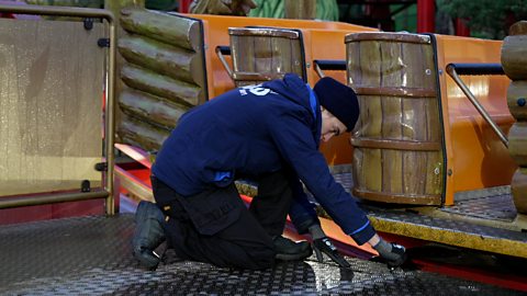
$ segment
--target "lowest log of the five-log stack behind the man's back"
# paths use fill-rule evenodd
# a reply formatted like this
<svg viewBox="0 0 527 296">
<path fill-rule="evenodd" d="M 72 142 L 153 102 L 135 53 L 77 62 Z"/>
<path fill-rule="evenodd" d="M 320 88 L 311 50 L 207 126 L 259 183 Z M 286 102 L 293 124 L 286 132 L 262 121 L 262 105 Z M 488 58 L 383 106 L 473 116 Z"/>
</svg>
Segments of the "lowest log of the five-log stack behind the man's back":
<svg viewBox="0 0 527 296">
<path fill-rule="evenodd" d="M 122 143 L 141 147 L 145 151 L 157 151 L 161 147 L 170 132 L 157 126 L 144 123 L 133 117 L 123 116 L 117 136 Z"/>
</svg>

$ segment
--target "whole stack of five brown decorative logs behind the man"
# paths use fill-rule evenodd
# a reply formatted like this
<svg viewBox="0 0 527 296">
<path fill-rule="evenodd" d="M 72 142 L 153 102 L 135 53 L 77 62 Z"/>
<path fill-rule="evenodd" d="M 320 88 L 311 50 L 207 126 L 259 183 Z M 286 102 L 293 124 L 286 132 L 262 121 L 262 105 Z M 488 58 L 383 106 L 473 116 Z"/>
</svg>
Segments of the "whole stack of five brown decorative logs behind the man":
<svg viewBox="0 0 527 296">
<path fill-rule="evenodd" d="M 127 34 L 117 42 L 125 62 L 119 141 L 156 150 L 190 107 L 206 101 L 201 21 L 141 8 L 121 10 Z"/>
</svg>

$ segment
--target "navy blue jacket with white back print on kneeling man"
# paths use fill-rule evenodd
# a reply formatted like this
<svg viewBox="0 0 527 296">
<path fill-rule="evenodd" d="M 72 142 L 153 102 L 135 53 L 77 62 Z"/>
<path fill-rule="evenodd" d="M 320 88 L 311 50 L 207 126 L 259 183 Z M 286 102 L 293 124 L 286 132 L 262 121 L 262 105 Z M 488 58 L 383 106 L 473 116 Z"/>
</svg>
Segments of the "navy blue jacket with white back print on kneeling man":
<svg viewBox="0 0 527 296">
<path fill-rule="evenodd" d="M 373 227 L 356 201 L 329 173 L 318 151 L 321 111 L 314 92 L 295 75 L 228 91 L 186 113 L 165 140 L 153 173 L 183 196 L 236 174 L 258 175 L 289 166 L 295 225 L 317 221 L 299 179 L 343 230 L 358 243 Z"/>
</svg>

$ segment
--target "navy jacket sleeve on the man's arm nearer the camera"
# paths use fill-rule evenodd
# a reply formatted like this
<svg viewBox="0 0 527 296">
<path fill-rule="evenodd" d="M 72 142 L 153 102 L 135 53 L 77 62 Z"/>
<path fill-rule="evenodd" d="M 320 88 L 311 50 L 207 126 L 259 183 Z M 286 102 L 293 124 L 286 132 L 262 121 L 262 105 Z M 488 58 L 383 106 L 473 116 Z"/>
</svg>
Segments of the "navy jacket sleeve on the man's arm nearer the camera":
<svg viewBox="0 0 527 296">
<path fill-rule="evenodd" d="M 313 193 L 333 220 L 362 244 L 375 230 L 356 200 L 335 181 L 312 130 L 301 114 L 282 113 L 270 125 L 271 137 L 283 159 Z"/>
</svg>

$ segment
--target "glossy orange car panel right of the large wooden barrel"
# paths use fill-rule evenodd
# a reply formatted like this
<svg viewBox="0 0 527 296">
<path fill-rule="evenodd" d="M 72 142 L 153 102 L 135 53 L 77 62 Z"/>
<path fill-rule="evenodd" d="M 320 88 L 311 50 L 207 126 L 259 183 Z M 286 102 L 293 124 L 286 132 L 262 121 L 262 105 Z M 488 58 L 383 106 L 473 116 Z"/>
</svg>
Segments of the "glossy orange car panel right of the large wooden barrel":
<svg viewBox="0 0 527 296">
<path fill-rule="evenodd" d="M 436 35 L 447 151 L 446 205 L 453 194 L 511 184 L 516 164 L 489 124 L 447 75 L 450 62 L 500 62 L 502 42 Z M 462 76 L 475 98 L 505 132 L 514 123 L 507 107 L 505 76 Z"/>
</svg>

